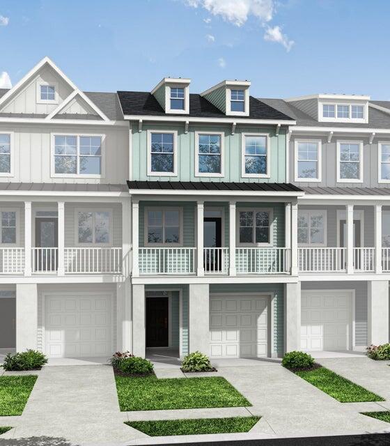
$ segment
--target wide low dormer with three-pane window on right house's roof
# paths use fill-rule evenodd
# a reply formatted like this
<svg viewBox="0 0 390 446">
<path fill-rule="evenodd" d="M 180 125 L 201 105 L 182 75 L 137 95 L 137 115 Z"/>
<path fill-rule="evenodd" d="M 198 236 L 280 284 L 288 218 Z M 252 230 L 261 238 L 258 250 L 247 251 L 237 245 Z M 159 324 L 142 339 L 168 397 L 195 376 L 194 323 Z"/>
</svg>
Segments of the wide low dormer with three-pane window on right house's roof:
<svg viewBox="0 0 390 446">
<path fill-rule="evenodd" d="M 320 123 L 368 123 L 366 95 L 319 94 L 286 99 Z"/>
</svg>

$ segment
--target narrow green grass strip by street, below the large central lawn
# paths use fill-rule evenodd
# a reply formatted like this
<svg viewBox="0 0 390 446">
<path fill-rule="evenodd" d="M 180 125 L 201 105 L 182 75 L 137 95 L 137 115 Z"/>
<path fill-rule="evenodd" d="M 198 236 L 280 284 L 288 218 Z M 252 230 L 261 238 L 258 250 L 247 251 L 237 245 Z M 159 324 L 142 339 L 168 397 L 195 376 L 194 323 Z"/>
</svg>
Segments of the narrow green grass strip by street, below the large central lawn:
<svg viewBox="0 0 390 446">
<path fill-rule="evenodd" d="M 198 435 L 201 433 L 248 432 L 260 417 L 202 418 L 200 420 L 128 421 L 148 436 Z"/>
</svg>

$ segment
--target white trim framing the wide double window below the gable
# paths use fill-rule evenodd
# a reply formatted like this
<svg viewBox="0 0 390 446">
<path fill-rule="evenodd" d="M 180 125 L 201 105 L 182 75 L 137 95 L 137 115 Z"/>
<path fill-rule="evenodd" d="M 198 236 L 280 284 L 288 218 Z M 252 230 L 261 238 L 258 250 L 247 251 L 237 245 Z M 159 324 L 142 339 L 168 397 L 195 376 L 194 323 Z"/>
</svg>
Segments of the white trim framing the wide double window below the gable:
<svg viewBox="0 0 390 446">
<path fill-rule="evenodd" d="M 101 172 L 100 174 L 56 174 L 56 163 L 55 163 L 55 148 L 56 148 L 56 139 L 55 137 L 76 137 L 77 138 L 77 168 L 79 166 L 79 138 L 80 137 L 100 137 L 102 141 L 101 146 Z M 54 132 L 50 134 L 50 139 L 52 141 L 51 144 L 51 177 L 52 178 L 104 178 L 106 175 L 106 135 L 105 134 L 97 134 L 97 133 L 61 133 L 61 132 Z M 81 155 L 82 156 L 82 155 Z"/>
</svg>

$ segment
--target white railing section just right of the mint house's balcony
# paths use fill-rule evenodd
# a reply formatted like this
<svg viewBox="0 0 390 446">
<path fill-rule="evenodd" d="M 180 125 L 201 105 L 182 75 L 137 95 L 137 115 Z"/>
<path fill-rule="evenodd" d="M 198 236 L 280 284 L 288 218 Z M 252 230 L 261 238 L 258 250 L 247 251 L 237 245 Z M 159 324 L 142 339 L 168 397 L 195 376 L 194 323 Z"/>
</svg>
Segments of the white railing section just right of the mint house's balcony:
<svg viewBox="0 0 390 446">
<path fill-rule="evenodd" d="M 346 261 L 346 248 L 298 248 L 299 272 L 344 272 Z"/>
</svg>

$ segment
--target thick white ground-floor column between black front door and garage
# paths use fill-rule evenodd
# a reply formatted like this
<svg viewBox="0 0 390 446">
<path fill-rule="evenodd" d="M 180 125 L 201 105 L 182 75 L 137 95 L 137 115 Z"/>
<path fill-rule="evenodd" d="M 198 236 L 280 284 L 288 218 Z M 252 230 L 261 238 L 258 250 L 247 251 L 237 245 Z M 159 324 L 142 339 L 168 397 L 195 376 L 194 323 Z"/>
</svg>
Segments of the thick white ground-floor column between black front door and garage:
<svg viewBox="0 0 390 446">
<path fill-rule="evenodd" d="M 209 352 L 209 286 L 208 284 L 189 284 L 189 353 Z"/>
</svg>

